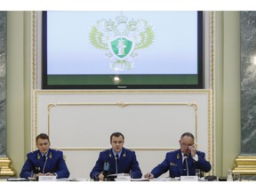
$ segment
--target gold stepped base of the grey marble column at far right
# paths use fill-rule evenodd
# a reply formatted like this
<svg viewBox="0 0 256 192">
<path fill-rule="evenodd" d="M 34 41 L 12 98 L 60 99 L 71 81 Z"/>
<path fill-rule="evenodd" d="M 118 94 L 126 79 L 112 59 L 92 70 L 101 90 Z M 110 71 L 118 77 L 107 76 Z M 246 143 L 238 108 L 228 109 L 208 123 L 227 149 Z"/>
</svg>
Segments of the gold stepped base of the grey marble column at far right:
<svg viewBox="0 0 256 192">
<path fill-rule="evenodd" d="M 237 156 L 235 161 L 236 167 L 234 167 L 232 173 L 243 175 L 256 174 L 256 156 Z"/>
</svg>

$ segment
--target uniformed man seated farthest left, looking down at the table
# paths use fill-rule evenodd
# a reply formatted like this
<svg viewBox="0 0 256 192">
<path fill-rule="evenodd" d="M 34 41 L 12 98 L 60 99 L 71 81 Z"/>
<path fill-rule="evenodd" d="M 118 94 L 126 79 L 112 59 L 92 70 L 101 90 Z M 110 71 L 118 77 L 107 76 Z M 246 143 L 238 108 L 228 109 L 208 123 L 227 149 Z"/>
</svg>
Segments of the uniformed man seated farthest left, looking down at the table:
<svg viewBox="0 0 256 192">
<path fill-rule="evenodd" d="M 67 164 L 60 150 L 50 148 L 50 139 L 47 134 L 41 133 L 36 137 L 36 151 L 27 155 L 27 160 L 20 172 L 20 178 L 36 178 L 42 175 L 68 178 Z"/>
</svg>

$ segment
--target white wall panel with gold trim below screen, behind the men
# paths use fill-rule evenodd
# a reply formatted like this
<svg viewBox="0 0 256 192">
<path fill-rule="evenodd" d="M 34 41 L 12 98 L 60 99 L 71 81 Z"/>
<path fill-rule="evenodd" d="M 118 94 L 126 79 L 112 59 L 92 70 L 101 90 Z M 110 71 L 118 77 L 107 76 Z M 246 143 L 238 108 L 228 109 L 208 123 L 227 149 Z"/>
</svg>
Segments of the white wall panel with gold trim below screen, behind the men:
<svg viewBox="0 0 256 192">
<path fill-rule="evenodd" d="M 180 148 L 183 132 L 196 136 L 197 148 L 213 164 L 210 94 L 209 90 L 36 91 L 32 143 L 38 133 L 49 134 L 52 148 L 64 151 L 70 177 L 76 178 L 89 178 L 100 150 L 110 148 L 112 132 L 124 133 L 124 147 L 136 151 L 143 173 L 161 163 L 166 152 Z"/>
</svg>

